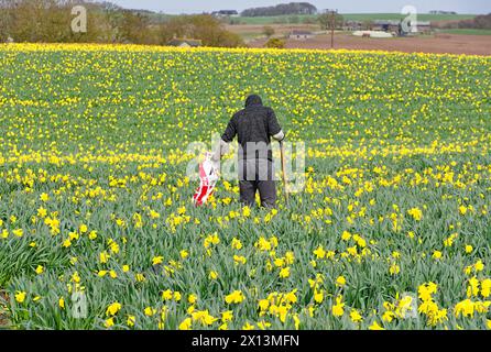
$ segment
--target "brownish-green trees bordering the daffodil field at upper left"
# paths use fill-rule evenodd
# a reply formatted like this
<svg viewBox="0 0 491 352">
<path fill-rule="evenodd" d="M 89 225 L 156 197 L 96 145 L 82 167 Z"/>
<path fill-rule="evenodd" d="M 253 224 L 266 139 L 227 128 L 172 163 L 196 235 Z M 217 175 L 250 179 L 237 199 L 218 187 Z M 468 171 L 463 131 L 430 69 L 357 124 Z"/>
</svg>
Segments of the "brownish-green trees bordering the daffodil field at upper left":
<svg viewBox="0 0 491 352">
<path fill-rule="evenodd" d="M 85 32 L 75 32 L 72 10 L 86 9 Z M 174 37 L 201 40 L 206 46 L 244 46 L 242 38 L 206 14 L 165 16 L 126 10 L 111 2 L 0 0 L 0 41 L 32 43 L 132 43 L 165 45 Z"/>
</svg>

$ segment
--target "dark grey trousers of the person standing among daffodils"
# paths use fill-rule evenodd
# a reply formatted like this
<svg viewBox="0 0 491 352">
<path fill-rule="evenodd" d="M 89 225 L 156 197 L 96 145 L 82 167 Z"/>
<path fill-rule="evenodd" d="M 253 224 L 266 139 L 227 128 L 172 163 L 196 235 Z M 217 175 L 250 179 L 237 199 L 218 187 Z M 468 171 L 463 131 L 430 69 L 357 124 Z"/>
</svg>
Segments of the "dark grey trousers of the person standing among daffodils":
<svg viewBox="0 0 491 352">
<path fill-rule="evenodd" d="M 240 201 L 254 206 L 255 193 L 259 190 L 261 207 L 276 208 L 276 183 L 274 165 L 270 160 L 239 161 Z"/>
</svg>

